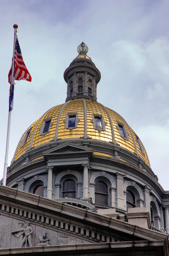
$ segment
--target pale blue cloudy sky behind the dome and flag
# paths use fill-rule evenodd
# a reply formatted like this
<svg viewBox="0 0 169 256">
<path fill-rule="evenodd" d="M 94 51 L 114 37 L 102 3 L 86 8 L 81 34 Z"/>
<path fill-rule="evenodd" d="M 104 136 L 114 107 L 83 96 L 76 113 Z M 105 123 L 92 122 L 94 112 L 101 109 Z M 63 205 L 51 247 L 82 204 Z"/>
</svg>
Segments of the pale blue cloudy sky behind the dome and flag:
<svg viewBox="0 0 169 256">
<path fill-rule="evenodd" d="M 159 183 L 169 190 L 169 1 L 0 0 L 0 6 L 0 179 L 16 23 L 32 82 L 15 82 L 8 166 L 29 125 L 64 103 L 63 73 L 84 41 L 101 72 L 98 102 L 114 109 L 138 134 Z"/>
</svg>

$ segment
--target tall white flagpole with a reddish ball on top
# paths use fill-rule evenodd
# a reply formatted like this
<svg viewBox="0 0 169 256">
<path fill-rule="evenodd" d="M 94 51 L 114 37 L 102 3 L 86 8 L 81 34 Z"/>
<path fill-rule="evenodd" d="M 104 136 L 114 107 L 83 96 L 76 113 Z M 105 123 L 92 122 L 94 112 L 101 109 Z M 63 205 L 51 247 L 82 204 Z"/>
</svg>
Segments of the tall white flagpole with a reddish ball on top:
<svg viewBox="0 0 169 256">
<path fill-rule="evenodd" d="M 18 25 L 14 24 L 14 42 L 13 42 L 13 58 L 12 58 L 12 66 L 11 66 L 11 84 L 14 84 L 15 76 L 14 75 L 14 64 L 15 64 L 15 44 L 17 39 L 17 28 Z M 3 173 L 3 185 L 6 186 L 6 177 L 7 177 L 7 167 L 8 167 L 8 149 L 9 149 L 9 141 L 10 141 L 10 124 L 11 124 L 11 110 L 8 113 L 8 129 L 6 136 L 6 151 L 4 157 L 4 173 Z"/>
</svg>

